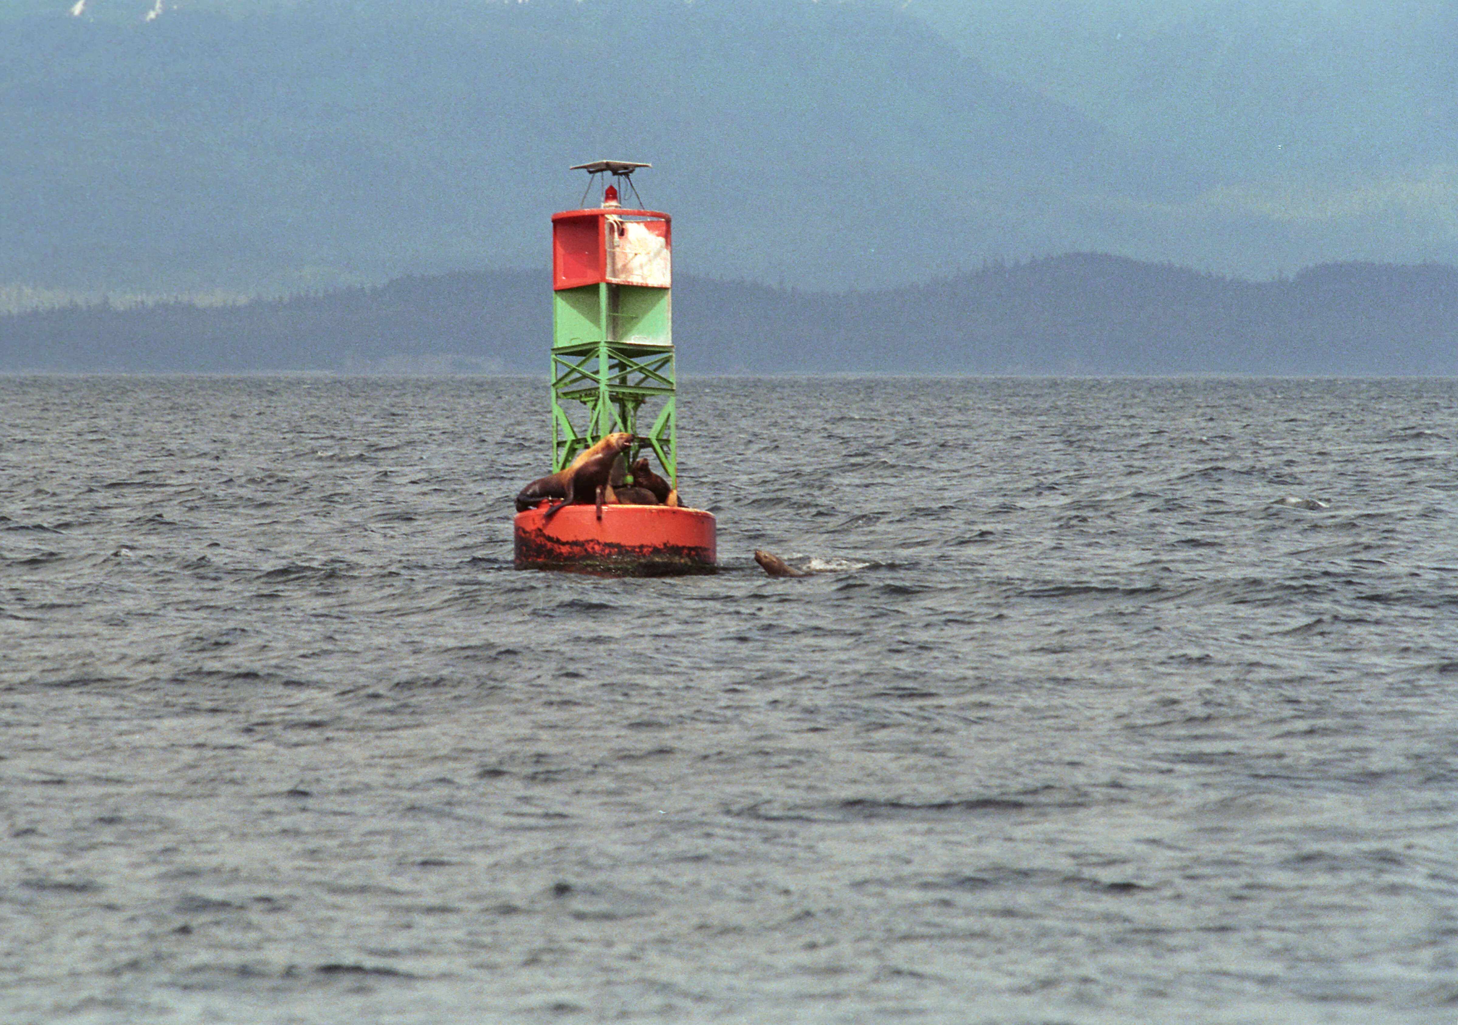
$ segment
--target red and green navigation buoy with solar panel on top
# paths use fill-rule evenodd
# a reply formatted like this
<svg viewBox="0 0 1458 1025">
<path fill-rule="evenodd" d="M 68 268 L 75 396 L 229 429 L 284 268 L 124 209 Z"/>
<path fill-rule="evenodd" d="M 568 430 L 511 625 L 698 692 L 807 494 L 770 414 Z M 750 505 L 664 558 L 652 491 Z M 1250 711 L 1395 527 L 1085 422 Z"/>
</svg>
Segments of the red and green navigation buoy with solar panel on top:
<svg viewBox="0 0 1458 1025">
<path fill-rule="evenodd" d="M 518 499 L 519 509 L 523 502 L 537 504 L 516 513 L 516 569 L 630 576 L 714 570 L 713 515 L 674 504 L 678 446 L 672 220 L 666 213 L 642 208 L 642 200 L 639 207 L 623 206 L 627 191 L 639 198 L 633 172 L 647 166 L 652 165 L 627 160 L 576 165 L 573 171 L 589 175 L 588 192 L 611 176 L 601 206 L 551 217 L 553 474 L 572 477 L 563 471 L 609 434 L 625 432 L 634 440 L 620 456 L 612 481 L 590 483 L 593 494 L 573 491 L 572 504 L 561 509 L 554 509 L 561 499 L 538 497 L 541 487 L 529 499 Z M 646 429 L 640 430 L 640 423 Z M 652 499 L 647 488 L 634 486 L 628 469 L 644 456 L 655 456 L 663 468 L 672 488 L 669 504 L 615 502 L 620 487 L 624 496 Z M 583 483 L 585 477 L 577 474 L 576 481 Z"/>
</svg>

